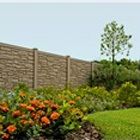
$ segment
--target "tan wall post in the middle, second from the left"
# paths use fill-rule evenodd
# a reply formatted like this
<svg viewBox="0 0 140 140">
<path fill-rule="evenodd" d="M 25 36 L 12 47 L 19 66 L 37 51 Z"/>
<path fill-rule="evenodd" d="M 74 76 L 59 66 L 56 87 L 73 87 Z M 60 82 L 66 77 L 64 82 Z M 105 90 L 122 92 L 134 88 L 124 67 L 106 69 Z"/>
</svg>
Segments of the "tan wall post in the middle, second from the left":
<svg viewBox="0 0 140 140">
<path fill-rule="evenodd" d="M 66 70 L 66 87 L 70 86 L 70 56 L 66 56 L 67 59 L 67 70 Z"/>
</svg>

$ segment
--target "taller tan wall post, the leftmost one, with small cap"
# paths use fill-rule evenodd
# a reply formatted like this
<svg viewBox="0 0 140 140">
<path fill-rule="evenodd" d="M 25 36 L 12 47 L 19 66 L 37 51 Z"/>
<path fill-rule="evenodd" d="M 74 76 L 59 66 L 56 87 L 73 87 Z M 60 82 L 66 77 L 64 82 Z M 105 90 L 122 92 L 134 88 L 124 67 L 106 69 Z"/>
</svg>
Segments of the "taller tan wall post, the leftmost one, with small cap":
<svg viewBox="0 0 140 140">
<path fill-rule="evenodd" d="M 37 88 L 37 70 L 38 70 L 38 49 L 34 48 L 34 76 L 33 76 L 33 88 Z"/>
</svg>

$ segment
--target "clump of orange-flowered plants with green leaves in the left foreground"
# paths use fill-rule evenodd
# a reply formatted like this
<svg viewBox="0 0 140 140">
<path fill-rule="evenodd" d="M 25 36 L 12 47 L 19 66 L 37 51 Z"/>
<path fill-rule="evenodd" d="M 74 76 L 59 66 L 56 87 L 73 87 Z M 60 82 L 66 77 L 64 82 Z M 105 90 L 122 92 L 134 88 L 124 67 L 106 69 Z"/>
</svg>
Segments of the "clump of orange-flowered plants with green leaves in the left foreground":
<svg viewBox="0 0 140 140">
<path fill-rule="evenodd" d="M 1 94 L 0 137 L 3 140 L 52 137 L 78 128 L 83 113 L 76 108 L 76 100 L 65 92 L 54 94 L 52 90 L 17 87 L 13 92 Z"/>
</svg>

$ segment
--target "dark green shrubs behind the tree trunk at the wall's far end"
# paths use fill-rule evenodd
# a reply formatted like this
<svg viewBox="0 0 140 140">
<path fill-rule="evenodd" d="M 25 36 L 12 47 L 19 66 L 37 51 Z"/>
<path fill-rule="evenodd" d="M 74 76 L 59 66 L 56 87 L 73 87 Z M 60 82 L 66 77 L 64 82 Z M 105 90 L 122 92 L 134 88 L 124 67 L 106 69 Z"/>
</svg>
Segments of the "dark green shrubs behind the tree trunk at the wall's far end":
<svg viewBox="0 0 140 140">
<path fill-rule="evenodd" d="M 112 73 L 113 65 L 110 61 L 102 60 L 93 71 L 93 86 L 104 86 L 111 90 L 118 88 L 125 82 L 132 82 L 140 89 L 140 63 L 127 59 L 116 61 L 114 64 L 114 75 Z M 114 79 L 114 80 L 113 80 Z"/>
</svg>

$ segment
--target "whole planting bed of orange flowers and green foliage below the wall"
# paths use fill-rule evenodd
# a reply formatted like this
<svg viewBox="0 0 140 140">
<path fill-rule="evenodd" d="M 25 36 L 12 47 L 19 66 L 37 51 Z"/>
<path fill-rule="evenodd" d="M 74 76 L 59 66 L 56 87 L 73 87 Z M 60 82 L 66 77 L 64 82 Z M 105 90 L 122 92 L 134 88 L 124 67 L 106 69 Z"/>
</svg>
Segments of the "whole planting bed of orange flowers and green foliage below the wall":
<svg viewBox="0 0 140 140">
<path fill-rule="evenodd" d="M 110 92 L 104 87 L 31 90 L 20 84 L 11 92 L 1 91 L 0 100 L 2 139 L 61 139 L 80 128 L 89 113 L 140 106 L 140 92 L 132 83 Z"/>
</svg>

